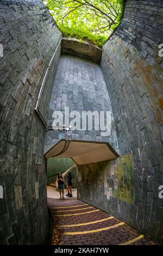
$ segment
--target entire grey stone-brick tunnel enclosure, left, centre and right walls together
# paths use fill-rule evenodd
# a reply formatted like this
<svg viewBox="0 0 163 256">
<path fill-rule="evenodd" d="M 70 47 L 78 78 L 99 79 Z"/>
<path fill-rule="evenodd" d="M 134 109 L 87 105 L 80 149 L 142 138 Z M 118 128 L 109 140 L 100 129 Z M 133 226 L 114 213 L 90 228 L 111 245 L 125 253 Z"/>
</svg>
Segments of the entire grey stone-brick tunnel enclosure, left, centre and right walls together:
<svg viewBox="0 0 163 256">
<path fill-rule="evenodd" d="M 40 0 L 0 2 L 0 243 L 43 245 L 49 233 L 44 154 L 64 133 L 48 130 L 54 109 L 110 111 L 115 160 L 78 166 L 78 199 L 163 243 L 163 3 L 125 1 L 120 26 L 102 50 L 62 38 Z M 90 182 L 91 180 L 91 182 Z"/>
</svg>

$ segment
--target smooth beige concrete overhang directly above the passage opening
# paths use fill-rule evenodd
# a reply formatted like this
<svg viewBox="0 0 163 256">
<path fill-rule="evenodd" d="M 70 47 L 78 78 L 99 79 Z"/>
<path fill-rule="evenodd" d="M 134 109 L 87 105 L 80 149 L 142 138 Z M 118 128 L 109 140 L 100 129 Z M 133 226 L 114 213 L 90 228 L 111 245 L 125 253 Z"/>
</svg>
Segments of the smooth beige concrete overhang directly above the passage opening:
<svg viewBox="0 0 163 256">
<path fill-rule="evenodd" d="M 47 151 L 45 157 L 71 157 L 76 164 L 81 165 L 116 159 L 119 155 L 108 142 L 61 139 Z"/>
</svg>

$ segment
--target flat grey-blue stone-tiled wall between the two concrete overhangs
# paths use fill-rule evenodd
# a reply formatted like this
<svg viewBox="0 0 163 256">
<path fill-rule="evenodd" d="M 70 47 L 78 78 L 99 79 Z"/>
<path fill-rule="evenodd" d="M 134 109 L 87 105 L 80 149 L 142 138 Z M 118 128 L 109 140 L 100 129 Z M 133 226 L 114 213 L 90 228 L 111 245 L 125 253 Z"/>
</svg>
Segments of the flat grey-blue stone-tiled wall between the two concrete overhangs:
<svg viewBox="0 0 163 256">
<path fill-rule="evenodd" d="M 101 68 L 91 60 L 79 57 L 73 57 L 62 54 L 55 76 L 51 103 L 49 106 L 48 124 L 52 125 L 54 118 L 53 112 L 61 111 L 64 115 L 65 107 L 69 107 L 70 113 L 78 111 L 80 117 L 82 112 L 97 111 L 100 117 L 100 111 L 111 112 L 111 133 L 109 136 L 102 136 L 102 130 L 89 130 L 88 125 L 85 130 L 82 126 L 72 131 L 72 139 L 85 141 L 103 141 L 109 142 L 115 150 L 118 151 L 117 136 L 112 116 L 110 99 Z M 73 116 L 70 118 L 70 121 Z M 99 121 L 99 119 L 98 119 Z M 100 122 L 99 122 L 100 123 Z M 45 139 L 45 152 L 55 145 L 60 139 L 66 138 L 65 132 L 47 131 Z"/>
</svg>

